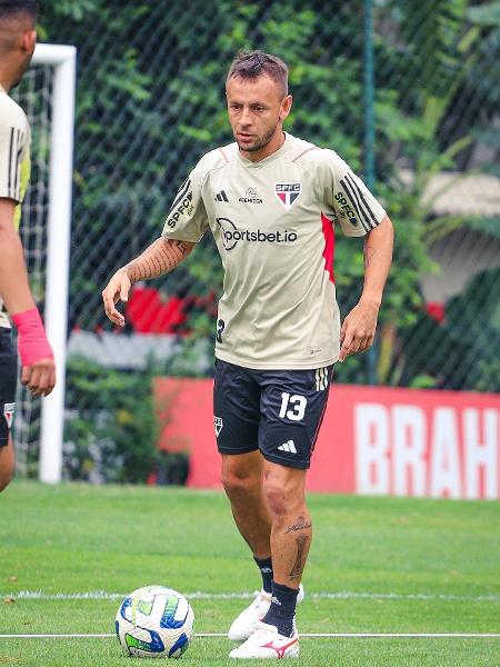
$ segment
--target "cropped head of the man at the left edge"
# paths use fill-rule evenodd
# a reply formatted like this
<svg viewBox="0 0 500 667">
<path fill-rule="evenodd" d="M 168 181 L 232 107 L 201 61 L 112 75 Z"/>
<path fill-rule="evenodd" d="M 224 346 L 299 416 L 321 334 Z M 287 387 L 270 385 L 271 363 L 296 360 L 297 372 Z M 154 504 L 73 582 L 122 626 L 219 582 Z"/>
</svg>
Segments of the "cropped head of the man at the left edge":
<svg viewBox="0 0 500 667">
<path fill-rule="evenodd" d="M 10 88 L 24 73 L 37 43 L 36 0 L 0 0 L 0 71 Z"/>
</svg>

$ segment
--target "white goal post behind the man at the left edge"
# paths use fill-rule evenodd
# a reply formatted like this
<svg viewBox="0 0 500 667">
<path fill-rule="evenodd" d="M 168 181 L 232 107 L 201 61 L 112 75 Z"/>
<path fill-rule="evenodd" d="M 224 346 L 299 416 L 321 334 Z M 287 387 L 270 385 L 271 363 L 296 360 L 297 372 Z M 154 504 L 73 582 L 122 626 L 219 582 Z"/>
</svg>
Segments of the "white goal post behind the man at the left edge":
<svg viewBox="0 0 500 667">
<path fill-rule="evenodd" d="M 39 43 L 32 64 L 53 68 L 44 322 L 57 365 L 57 385 L 41 404 L 39 478 L 56 484 L 61 480 L 64 427 L 77 49 Z"/>
</svg>

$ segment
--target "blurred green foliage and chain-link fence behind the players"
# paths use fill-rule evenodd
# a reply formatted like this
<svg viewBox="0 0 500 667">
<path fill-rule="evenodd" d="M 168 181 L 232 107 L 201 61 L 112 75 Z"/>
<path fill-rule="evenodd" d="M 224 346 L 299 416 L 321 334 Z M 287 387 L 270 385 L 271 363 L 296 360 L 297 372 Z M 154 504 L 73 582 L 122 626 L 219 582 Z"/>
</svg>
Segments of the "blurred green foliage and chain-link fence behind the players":
<svg viewBox="0 0 500 667">
<path fill-rule="evenodd" d="M 239 50 L 289 64 L 294 103 L 286 129 L 334 149 L 396 227 L 376 345 L 338 368 L 336 385 L 500 391 L 500 2 L 52 0 L 41 8 L 39 40 L 78 49 L 64 478 L 188 478 L 192 444 L 163 438 L 157 447 L 171 412 L 168 397 L 154 405 L 152 386 L 157 377 L 212 375 L 216 247 L 207 235 L 172 275 L 137 285 L 124 330 L 106 319 L 101 291 L 158 238 L 199 158 L 231 141 L 224 79 Z M 22 233 L 42 286 L 51 74 L 36 70 L 17 94 L 31 104 L 34 170 Z M 342 315 L 362 275 L 362 243 L 339 235 Z M 37 292 L 43 305 L 43 288 Z M 18 474 L 37 476 L 39 405 L 20 398 Z"/>
</svg>

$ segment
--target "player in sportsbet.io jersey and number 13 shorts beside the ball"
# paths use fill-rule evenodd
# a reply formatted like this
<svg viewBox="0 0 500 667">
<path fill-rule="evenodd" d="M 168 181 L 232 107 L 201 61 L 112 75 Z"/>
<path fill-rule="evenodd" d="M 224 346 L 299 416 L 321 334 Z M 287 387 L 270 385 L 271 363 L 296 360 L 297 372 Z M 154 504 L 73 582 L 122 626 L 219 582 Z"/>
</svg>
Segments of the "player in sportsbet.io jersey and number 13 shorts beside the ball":
<svg viewBox="0 0 500 667">
<path fill-rule="evenodd" d="M 241 53 L 226 91 L 236 143 L 199 161 L 161 238 L 114 273 L 103 300 L 123 326 L 116 303 L 131 283 L 173 269 L 210 228 L 224 268 L 214 378 L 222 482 L 262 575 L 262 591 L 229 630 L 243 641 L 230 657 L 297 657 L 296 603 L 312 535 L 306 472 L 333 364 L 373 341 L 392 226 L 337 153 L 283 132 L 292 98 L 279 58 Z M 366 237 L 364 288 L 341 329 L 333 222 Z"/>
</svg>

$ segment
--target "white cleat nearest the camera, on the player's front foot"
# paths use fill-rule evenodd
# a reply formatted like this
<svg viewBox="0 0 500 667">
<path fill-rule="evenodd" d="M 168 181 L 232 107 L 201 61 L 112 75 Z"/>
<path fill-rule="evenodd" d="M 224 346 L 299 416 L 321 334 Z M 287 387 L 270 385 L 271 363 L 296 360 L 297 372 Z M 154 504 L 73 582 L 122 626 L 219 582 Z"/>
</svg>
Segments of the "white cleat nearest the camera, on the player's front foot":
<svg viewBox="0 0 500 667">
<path fill-rule="evenodd" d="M 292 637 L 284 637 L 278 633 L 278 628 L 267 623 L 257 623 L 257 630 L 253 635 L 233 648 L 229 654 L 230 658 L 298 658 L 299 657 L 299 634 L 293 623 Z"/>
</svg>

